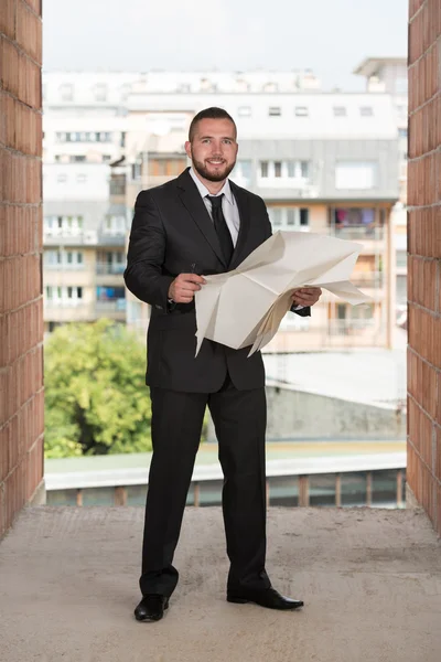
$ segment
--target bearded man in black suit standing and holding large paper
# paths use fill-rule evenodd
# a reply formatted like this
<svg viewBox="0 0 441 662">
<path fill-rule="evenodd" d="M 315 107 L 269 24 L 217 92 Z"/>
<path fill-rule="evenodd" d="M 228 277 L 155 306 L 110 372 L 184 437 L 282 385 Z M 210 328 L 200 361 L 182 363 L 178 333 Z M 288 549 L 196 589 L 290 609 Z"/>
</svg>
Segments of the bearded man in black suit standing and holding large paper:
<svg viewBox="0 0 441 662">
<path fill-rule="evenodd" d="M 141 621 L 162 618 L 178 584 L 173 554 L 206 406 L 219 444 L 223 513 L 230 568 L 227 600 L 295 609 L 265 570 L 265 372 L 259 352 L 204 340 L 195 357 L 194 295 L 203 275 L 234 269 L 271 235 L 263 201 L 228 180 L 236 125 L 220 108 L 198 113 L 185 150 L 192 168 L 137 199 L 126 285 L 151 305 L 147 384 L 152 402 L 150 467 L 142 548 Z M 320 288 L 295 292 L 309 316 Z"/>
</svg>

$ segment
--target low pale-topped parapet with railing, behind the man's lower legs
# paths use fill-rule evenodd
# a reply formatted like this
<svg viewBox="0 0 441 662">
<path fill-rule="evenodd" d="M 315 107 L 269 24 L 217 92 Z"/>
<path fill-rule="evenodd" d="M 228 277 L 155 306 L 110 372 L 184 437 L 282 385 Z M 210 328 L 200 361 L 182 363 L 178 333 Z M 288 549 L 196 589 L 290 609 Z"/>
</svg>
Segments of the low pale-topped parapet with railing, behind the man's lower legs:
<svg viewBox="0 0 441 662">
<path fill-rule="evenodd" d="M 304 458 L 267 463 L 268 505 L 388 505 L 405 502 L 406 453 Z M 194 469 L 187 505 L 220 505 L 222 472 L 213 466 Z M 135 505 L 143 503 L 146 469 L 47 473 L 47 503 Z"/>
</svg>

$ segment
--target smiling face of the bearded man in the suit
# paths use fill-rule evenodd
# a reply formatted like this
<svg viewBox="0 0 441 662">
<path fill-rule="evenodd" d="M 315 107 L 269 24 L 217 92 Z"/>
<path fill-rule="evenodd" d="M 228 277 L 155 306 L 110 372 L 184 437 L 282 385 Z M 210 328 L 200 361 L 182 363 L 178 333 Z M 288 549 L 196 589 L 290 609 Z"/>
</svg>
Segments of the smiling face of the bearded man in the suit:
<svg viewBox="0 0 441 662">
<path fill-rule="evenodd" d="M 236 164 L 237 148 L 235 127 L 229 119 L 201 119 L 192 142 L 185 142 L 193 168 L 211 182 L 227 179 Z"/>
</svg>

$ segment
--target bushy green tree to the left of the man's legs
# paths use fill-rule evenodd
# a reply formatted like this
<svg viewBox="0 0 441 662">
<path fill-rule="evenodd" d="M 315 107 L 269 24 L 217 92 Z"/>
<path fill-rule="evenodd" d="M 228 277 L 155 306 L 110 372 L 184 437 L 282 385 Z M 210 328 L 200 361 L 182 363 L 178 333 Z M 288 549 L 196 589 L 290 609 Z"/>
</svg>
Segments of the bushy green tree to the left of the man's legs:
<svg viewBox="0 0 441 662">
<path fill-rule="evenodd" d="M 121 324 L 66 324 L 45 345 L 45 455 L 151 450 L 146 349 Z"/>
</svg>

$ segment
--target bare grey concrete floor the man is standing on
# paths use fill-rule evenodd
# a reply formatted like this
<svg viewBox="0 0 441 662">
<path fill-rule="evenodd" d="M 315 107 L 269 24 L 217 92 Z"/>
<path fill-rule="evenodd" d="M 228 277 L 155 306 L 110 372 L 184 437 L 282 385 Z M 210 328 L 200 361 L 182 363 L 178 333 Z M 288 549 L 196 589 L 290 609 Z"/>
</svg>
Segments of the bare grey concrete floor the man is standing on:
<svg viewBox="0 0 441 662">
<path fill-rule="evenodd" d="M 0 544 L 1 662 L 439 662 L 441 544 L 421 511 L 270 509 L 268 572 L 297 612 L 224 598 L 219 509 L 189 509 L 181 581 L 132 617 L 142 509 L 23 511 Z"/>
</svg>

